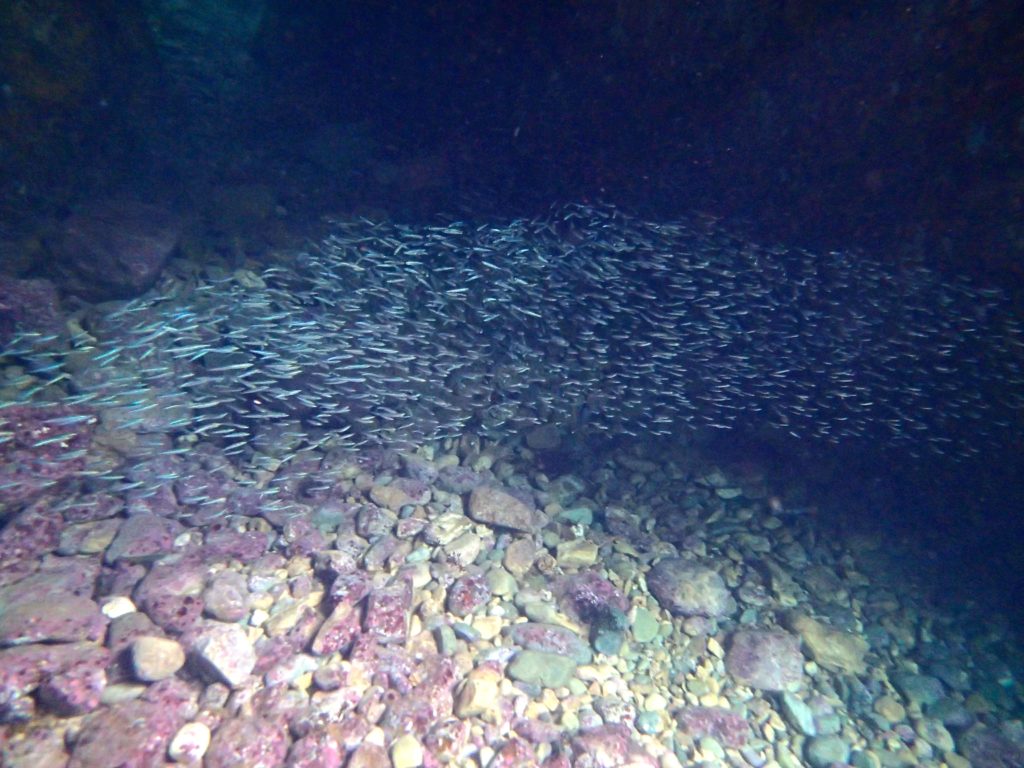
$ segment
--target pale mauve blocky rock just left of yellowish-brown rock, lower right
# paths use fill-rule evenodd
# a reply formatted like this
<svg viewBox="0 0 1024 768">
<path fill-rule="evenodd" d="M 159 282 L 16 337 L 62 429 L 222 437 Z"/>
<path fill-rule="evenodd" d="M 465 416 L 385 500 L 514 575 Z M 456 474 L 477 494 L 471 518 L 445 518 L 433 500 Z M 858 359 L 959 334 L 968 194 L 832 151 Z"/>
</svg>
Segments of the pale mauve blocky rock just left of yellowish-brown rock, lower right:
<svg viewBox="0 0 1024 768">
<path fill-rule="evenodd" d="M 732 635 L 725 669 L 752 688 L 785 690 L 804 676 L 800 638 L 783 630 L 742 630 Z"/>
</svg>

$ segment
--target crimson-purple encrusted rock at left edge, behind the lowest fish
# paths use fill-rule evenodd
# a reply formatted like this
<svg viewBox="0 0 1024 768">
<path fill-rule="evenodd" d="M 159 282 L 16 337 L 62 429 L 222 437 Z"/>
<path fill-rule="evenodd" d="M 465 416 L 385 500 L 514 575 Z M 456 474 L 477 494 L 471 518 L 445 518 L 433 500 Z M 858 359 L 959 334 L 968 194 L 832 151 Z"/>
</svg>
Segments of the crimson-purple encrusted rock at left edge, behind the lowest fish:
<svg viewBox="0 0 1024 768">
<path fill-rule="evenodd" d="M 69 419 L 79 421 L 61 423 Z M 83 408 L 11 406 L 0 410 L 0 432 L 11 434 L 0 444 L 0 512 L 31 501 L 85 469 L 85 452 L 95 424 L 95 417 Z M 0 559 L 0 565 L 8 558 Z"/>
</svg>

